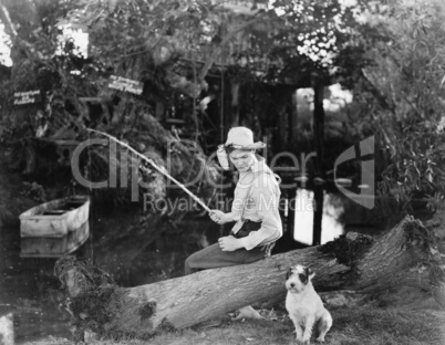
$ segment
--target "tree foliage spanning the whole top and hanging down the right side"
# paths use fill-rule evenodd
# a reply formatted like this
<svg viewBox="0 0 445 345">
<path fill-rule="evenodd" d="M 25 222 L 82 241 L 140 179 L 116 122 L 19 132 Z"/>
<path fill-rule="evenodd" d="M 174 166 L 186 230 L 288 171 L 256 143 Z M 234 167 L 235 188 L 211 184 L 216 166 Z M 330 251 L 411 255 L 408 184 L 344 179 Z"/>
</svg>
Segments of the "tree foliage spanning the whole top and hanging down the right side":
<svg viewBox="0 0 445 345">
<path fill-rule="evenodd" d="M 85 138 L 79 128 L 97 127 L 120 138 L 132 136 L 136 147 L 153 146 L 165 160 L 157 138 L 135 129 L 145 127 L 143 115 L 154 118 L 158 103 L 169 107 L 185 97 L 187 126 L 194 126 L 196 135 L 204 132 L 198 97 L 207 87 L 205 76 L 216 59 L 230 58 L 230 51 L 235 60 L 226 76 L 232 81 L 299 87 L 340 81 L 354 87 L 350 112 L 354 135 L 379 134 L 383 147 L 376 171 L 383 176 L 380 192 L 394 194 L 406 205 L 421 196 L 437 208 L 445 190 L 444 4 L 439 0 L 250 3 L 248 15 L 234 15 L 224 2 L 210 0 L 7 1 L 19 29 L 11 39 L 14 67 L 2 97 L 11 100 L 14 90 L 44 90 L 53 125 L 49 135 L 74 128 L 74 137 Z M 64 43 L 64 54 L 55 54 L 61 24 L 89 32 L 89 59 L 80 56 L 72 42 Z M 197 56 L 205 58 L 198 62 Z M 143 94 L 110 90 L 111 74 L 143 82 Z M 101 98 L 99 115 L 81 97 Z M 252 116 L 252 123 L 261 123 Z M 104 153 L 96 148 L 94 155 Z M 103 175 L 106 159 L 102 160 L 97 167 Z M 198 155 L 192 166 L 201 167 L 201 160 Z M 180 165 L 184 172 L 190 171 L 188 164 Z"/>
</svg>

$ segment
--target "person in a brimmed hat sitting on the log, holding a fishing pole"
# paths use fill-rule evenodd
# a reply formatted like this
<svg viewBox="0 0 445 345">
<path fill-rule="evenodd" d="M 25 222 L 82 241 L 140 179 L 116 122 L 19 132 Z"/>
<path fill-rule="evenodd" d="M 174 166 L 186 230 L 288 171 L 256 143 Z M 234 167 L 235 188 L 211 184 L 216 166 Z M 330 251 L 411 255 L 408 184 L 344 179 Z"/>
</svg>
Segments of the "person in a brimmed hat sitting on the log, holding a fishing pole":
<svg viewBox="0 0 445 345">
<path fill-rule="evenodd" d="M 249 128 L 235 127 L 229 130 L 226 144 L 218 148 L 221 166 L 228 169 L 228 156 L 239 171 L 239 179 L 231 211 L 211 210 L 210 218 L 218 224 L 236 223 L 229 236 L 188 257 L 185 274 L 261 260 L 282 236 L 279 182 L 265 158 L 255 154 L 263 147 L 263 143 L 253 143 Z M 237 318 L 249 316 L 259 317 L 259 314 L 248 306 L 240 310 Z"/>
</svg>

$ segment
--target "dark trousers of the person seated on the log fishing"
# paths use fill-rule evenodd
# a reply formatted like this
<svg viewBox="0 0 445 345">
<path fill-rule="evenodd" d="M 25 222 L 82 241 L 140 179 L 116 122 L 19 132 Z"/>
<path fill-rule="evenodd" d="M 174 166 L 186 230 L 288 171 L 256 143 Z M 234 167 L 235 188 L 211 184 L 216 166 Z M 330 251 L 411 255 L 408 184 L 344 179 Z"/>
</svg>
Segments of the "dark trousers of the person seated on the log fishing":
<svg viewBox="0 0 445 345">
<path fill-rule="evenodd" d="M 219 248 L 219 243 L 215 243 L 187 258 L 185 261 L 185 274 L 192 274 L 207 269 L 252 263 L 263 259 L 265 257 L 265 247 L 257 247 L 251 250 L 241 248 L 236 251 L 222 251 Z"/>
</svg>

